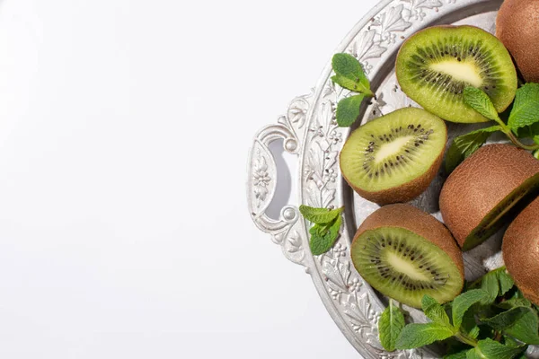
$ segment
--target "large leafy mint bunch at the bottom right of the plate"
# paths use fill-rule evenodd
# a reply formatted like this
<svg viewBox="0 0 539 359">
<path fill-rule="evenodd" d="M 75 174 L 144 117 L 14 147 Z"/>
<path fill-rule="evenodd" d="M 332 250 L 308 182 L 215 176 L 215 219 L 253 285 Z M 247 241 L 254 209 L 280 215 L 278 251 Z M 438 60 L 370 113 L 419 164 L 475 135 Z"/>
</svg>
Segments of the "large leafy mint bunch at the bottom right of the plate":
<svg viewBox="0 0 539 359">
<path fill-rule="evenodd" d="M 505 267 L 489 272 L 466 288 L 446 305 L 425 295 L 422 310 L 432 321 L 398 328 L 400 334 L 394 346 L 391 341 L 388 344 L 388 337 L 394 338 L 398 330 L 391 330 L 388 316 L 400 310 L 390 303 L 378 326 L 384 348 L 413 349 L 446 341 L 452 348 L 447 359 L 519 359 L 528 345 L 539 345 L 537 311 L 517 290 Z M 449 308 L 451 316 L 446 312 Z"/>
</svg>

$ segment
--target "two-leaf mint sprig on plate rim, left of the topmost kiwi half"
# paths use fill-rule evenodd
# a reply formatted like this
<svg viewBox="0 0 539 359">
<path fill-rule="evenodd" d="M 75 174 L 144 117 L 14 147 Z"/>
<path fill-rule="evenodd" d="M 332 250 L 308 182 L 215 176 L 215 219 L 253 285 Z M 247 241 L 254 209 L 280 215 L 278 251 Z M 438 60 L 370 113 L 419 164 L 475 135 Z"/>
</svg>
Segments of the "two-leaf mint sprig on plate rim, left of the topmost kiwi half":
<svg viewBox="0 0 539 359">
<path fill-rule="evenodd" d="M 335 54 L 331 58 L 331 67 L 335 75 L 331 76 L 331 81 L 340 87 L 351 92 L 358 92 L 337 104 L 336 119 L 340 127 L 350 127 L 359 117 L 359 109 L 365 97 L 372 97 L 375 94 L 370 89 L 370 83 L 363 67 L 356 57 L 349 54 Z"/>
</svg>

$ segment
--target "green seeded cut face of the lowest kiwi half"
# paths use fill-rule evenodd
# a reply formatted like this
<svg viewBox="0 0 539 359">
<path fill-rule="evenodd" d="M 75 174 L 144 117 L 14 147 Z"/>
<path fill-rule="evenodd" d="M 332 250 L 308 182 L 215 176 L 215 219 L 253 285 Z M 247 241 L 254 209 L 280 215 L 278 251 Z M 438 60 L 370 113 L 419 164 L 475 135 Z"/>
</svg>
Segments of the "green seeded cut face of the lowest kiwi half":
<svg viewBox="0 0 539 359">
<path fill-rule="evenodd" d="M 445 251 L 398 227 L 364 232 L 352 251 L 359 274 L 377 291 L 412 307 L 423 295 L 449 302 L 462 289 L 462 277 Z"/>
</svg>

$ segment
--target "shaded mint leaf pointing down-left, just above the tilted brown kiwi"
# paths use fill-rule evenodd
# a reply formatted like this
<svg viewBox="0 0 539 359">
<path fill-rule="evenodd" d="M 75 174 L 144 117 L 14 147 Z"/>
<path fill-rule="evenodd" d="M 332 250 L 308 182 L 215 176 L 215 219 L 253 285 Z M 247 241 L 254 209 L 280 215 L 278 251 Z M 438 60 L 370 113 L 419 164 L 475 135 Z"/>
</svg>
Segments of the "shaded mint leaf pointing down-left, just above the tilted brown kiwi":
<svg viewBox="0 0 539 359">
<path fill-rule="evenodd" d="M 492 126 L 472 131 L 466 135 L 455 137 L 446 154 L 447 173 L 455 170 L 461 162 L 477 151 L 493 132 L 501 131 L 501 127 Z"/>
</svg>

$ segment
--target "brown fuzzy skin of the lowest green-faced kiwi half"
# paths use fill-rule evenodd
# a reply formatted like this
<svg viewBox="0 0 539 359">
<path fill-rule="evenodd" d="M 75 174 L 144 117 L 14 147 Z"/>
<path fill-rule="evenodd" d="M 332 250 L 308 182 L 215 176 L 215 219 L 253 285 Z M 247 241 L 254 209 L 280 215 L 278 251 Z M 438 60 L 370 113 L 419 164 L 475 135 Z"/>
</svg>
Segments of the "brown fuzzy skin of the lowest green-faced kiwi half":
<svg viewBox="0 0 539 359">
<path fill-rule="evenodd" d="M 432 215 L 406 204 L 383 206 L 361 223 L 358 232 L 354 236 L 352 246 L 363 232 L 376 230 L 376 228 L 380 227 L 404 228 L 419 234 L 427 241 L 444 250 L 453 260 L 455 266 L 458 267 L 464 285 L 463 253 L 444 224 L 438 222 Z"/>
</svg>

